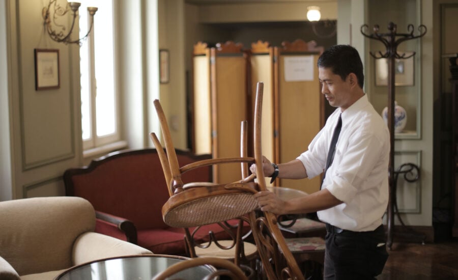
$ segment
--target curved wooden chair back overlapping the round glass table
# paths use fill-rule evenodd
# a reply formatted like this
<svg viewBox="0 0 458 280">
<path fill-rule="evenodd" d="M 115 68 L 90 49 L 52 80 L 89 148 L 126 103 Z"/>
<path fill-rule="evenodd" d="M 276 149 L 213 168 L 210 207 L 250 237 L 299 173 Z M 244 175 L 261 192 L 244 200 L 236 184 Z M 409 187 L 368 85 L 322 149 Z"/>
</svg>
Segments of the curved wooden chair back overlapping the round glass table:
<svg viewBox="0 0 458 280">
<path fill-rule="evenodd" d="M 226 276 L 230 279 L 235 280 L 247 280 L 248 278 L 245 276 L 243 271 L 236 266 L 235 264 L 231 263 L 230 261 L 219 259 L 219 258 L 198 258 L 198 259 L 191 259 L 183 262 L 176 263 L 174 265 L 169 266 L 167 269 L 162 271 L 161 273 L 157 274 L 153 277 L 153 280 L 165 280 L 170 276 L 175 275 L 176 273 L 183 271 L 185 269 L 201 266 L 201 265 L 211 265 L 216 270 L 215 272 L 209 274 L 205 279 L 216 279 L 218 276 Z M 174 278 L 180 280 L 180 278 Z M 226 278 L 225 278 L 226 279 Z"/>
</svg>

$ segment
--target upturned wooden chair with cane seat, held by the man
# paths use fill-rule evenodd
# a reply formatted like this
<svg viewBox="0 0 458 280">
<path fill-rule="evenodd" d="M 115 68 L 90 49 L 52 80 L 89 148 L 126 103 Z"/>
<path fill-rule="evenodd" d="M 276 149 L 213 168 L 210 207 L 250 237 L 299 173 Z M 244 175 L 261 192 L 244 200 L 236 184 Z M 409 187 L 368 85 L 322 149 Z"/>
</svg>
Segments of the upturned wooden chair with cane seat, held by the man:
<svg viewBox="0 0 458 280">
<path fill-rule="evenodd" d="M 262 86 L 261 86 L 262 90 Z M 236 218 L 257 208 L 252 194 L 256 192 L 254 182 L 227 182 L 212 184 L 194 182 L 186 184 L 182 175 L 199 167 L 222 163 L 254 163 L 253 157 L 213 158 L 194 162 L 180 167 L 175 154 L 167 120 L 159 100 L 154 100 L 161 124 L 167 154 L 160 153 L 164 177 L 168 181 L 167 190 L 171 195 L 162 207 L 165 223 L 172 227 L 194 227 Z M 162 150 L 155 133 L 151 133 L 157 150 Z M 235 207 L 234 207 L 235 206 Z M 210 209 L 210 210 L 209 210 Z"/>
</svg>

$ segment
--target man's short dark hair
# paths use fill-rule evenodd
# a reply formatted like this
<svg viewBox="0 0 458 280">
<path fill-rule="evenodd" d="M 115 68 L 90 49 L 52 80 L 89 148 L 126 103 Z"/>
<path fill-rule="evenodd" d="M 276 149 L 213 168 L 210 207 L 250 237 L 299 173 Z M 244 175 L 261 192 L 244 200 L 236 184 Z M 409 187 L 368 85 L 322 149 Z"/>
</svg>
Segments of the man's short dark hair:
<svg viewBox="0 0 458 280">
<path fill-rule="evenodd" d="M 325 50 L 318 59 L 318 67 L 331 68 L 332 73 L 345 80 L 350 73 L 358 78 L 361 89 L 364 86 L 364 73 L 358 51 L 350 45 L 334 45 Z"/>
</svg>

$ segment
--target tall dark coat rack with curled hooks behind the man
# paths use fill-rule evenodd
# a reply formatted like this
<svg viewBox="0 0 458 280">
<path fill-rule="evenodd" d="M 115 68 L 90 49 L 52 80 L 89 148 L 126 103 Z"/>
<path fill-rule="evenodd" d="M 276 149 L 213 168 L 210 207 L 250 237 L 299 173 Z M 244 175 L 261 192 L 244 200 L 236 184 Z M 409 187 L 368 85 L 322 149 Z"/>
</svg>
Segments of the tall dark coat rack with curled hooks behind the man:
<svg viewBox="0 0 458 280">
<path fill-rule="evenodd" d="M 367 24 L 361 26 L 361 34 L 369 39 L 378 40 L 383 43 L 386 51 L 378 51 L 376 53 L 369 52 L 371 57 L 375 59 L 387 59 L 388 61 L 388 129 L 390 131 L 390 160 L 388 167 L 389 174 L 389 202 L 387 209 L 387 246 L 391 249 L 393 242 L 393 227 L 394 227 L 394 209 L 397 210 L 396 204 L 396 173 L 394 171 L 394 65 L 395 59 L 408 59 L 415 55 L 406 55 L 406 53 L 398 53 L 397 46 L 405 41 L 423 37 L 426 34 L 426 26 L 423 24 L 418 26 L 419 35 L 414 35 L 414 26 L 409 24 L 407 26 L 408 33 L 397 33 L 397 26 L 393 22 L 388 23 L 388 32 L 379 33 L 379 25 L 374 25 L 374 32 L 371 34 L 365 33 L 368 29 Z M 399 170 L 400 171 L 400 170 Z M 400 219 L 399 215 L 397 215 Z M 402 220 L 401 220 L 402 222 Z"/>
</svg>

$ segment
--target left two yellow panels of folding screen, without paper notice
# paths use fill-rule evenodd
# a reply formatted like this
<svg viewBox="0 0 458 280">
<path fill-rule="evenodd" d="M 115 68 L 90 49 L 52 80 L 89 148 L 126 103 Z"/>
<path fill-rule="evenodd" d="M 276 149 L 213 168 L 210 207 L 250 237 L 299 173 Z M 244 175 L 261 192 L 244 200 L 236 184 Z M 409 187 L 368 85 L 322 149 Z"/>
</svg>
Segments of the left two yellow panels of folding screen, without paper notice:
<svg viewBox="0 0 458 280">
<path fill-rule="evenodd" d="M 246 54 L 241 44 L 194 46 L 194 144 L 196 154 L 240 156 L 240 124 L 247 120 Z M 214 182 L 241 179 L 240 164 L 214 166 Z"/>
</svg>

